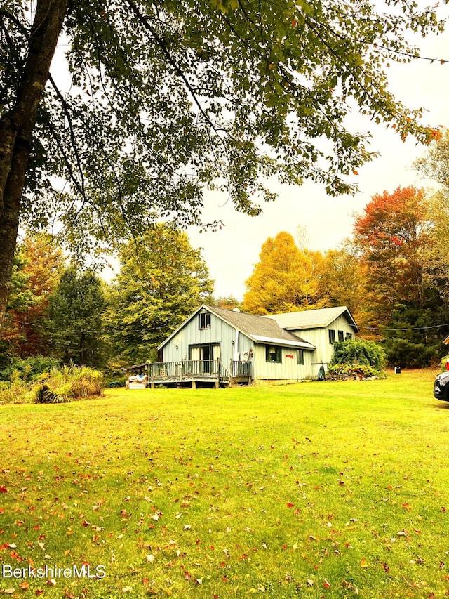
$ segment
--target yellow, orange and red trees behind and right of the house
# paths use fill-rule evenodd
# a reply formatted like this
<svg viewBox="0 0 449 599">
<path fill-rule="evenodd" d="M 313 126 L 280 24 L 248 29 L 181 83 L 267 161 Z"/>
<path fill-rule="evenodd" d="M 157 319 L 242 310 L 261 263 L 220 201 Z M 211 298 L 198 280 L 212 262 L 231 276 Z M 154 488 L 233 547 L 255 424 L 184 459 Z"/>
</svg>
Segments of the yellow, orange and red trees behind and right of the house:
<svg viewBox="0 0 449 599">
<path fill-rule="evenodd" d="M 417 160 L 435 189 L 374 195 L 353 235 L 326 254 L 280 232 L 262 246 L 243 307 L 269 314 L 347 305 L 361 335 L 380 341 L 391 363 L 424 366 L 449 334 L 449 133 Z"/>
</svg>

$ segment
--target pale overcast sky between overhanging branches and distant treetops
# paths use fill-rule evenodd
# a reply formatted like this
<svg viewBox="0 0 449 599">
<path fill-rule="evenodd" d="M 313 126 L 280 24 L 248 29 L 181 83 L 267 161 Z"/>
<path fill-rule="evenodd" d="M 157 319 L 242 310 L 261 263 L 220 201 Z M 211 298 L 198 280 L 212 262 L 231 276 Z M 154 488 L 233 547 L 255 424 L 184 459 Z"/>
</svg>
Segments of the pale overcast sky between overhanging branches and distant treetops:
<svg viewBox="0 0 449 599">
<path fill-rule="evenodd" d="M 446 14 L 448 11 L 446 10 Z M 449 29 L 438 37 L 420 42 L 422 56 L 449 60 Z M 410 65 L 393 65 L 389 70 L 391 91 L 408 107 L 423 106 L 423 122 L 431 126 L 449 127 L 449 63 L 415 60 Z M 206 196 L 205 219 L 220 219 L 225 227 L 215 233 L 199 234 L 189 229 L 194 247 L 203 248 L 210 276 L 215 280 L 215 296 L 234 295 L 241 299 L 245 281 L 258 261 L 260 249 L 267 237 L 285 230 L 296 235 L 298 225 L 306 228 L 309 249 L 326 251 L 336 248 L 351 235 L 354 213 L 360 212 L 370 197 L 384 190 L 408 185 L 428 186 L 420 180 L 412 163 L 425 153 L 425 147 L 408 139 L 402 143 L 397 133 L 354 114 L 355 131 L 370 131 L 371 150 L 380 157 L 358 169 L 360 192 L 355 196 L 328 197 L 323 186 L 306 183 L 301 187 L 270 185 L 279 195 L 276 202 L 265 204 L 256 218 L 233 211 L 227 195 Z"/>
</svg>

